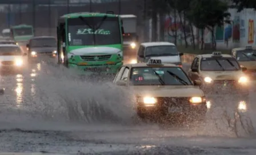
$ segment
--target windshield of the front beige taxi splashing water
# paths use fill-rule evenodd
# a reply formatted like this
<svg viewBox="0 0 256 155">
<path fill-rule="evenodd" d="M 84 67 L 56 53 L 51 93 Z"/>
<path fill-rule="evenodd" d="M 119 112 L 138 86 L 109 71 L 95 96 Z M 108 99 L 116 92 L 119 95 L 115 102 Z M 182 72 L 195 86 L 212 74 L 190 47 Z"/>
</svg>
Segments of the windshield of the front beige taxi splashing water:
<svg viewBox="0 0 256 155">
<path fill-rule="evenodd" d="M 134 67 L 131 85 L 192 85 L 180 67 Z"/>
</svg>

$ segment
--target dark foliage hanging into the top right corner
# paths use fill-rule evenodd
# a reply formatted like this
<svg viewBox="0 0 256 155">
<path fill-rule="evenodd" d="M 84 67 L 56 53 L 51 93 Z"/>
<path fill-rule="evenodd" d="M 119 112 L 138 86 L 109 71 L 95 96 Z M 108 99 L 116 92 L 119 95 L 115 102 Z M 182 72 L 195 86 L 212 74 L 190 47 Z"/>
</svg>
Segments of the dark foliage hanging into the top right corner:
<svg viewBox="0 0 256 155">
<path fill-rule="evenodd" d="M 235 7 L 237 8 L 238 12 L 246 8 L 252 8 L 256 10 L 256 1 L 254 0 L 231 0 L 231 1 L 235 4 Z"/>
</svg>

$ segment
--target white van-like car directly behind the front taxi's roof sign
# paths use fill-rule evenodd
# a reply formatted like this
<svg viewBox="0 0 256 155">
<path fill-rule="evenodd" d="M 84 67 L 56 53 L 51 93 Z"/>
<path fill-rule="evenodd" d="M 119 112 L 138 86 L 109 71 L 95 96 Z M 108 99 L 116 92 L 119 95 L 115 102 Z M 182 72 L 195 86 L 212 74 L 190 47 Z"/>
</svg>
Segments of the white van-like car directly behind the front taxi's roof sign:
<svg viewBox="0 0 256 155">
<path fill-rule="evenodd" d="M 137 62 L 146 63 L 149 59 L 160 59 L 163 63 L 172 63 L 182 66 L 181 56 L 175 44 L 169 42 L 142 43 L 137 52 Z"/>
</svg>

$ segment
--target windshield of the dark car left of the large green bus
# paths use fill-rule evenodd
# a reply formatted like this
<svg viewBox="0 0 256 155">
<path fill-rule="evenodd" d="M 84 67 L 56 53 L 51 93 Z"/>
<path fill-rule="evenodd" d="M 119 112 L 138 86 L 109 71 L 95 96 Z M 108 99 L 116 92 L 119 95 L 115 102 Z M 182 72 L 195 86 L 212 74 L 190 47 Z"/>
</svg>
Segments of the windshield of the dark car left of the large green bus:
<svg viewBox="0 0 256 155">
<path fill-rule="evenodd" d="M 37 38 L 31 39 L 30 47 L 57 47 L 57 40 L 55 38 Z"/>
</svg>

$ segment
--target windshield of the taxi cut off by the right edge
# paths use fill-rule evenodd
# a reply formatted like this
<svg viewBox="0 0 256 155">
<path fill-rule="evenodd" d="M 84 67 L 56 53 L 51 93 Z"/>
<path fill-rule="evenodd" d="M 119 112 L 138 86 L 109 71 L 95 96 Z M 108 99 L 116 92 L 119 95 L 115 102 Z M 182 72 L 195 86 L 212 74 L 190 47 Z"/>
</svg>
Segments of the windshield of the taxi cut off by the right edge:
<svg viewBox="0 0 256 155">
<path fill-rule="evenodd" d="M 237 51 L 237 60 L 239 62 L 256 61 L 256 50 Z"/>
</svg>

